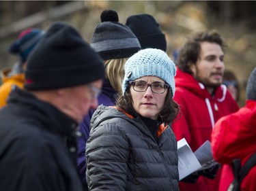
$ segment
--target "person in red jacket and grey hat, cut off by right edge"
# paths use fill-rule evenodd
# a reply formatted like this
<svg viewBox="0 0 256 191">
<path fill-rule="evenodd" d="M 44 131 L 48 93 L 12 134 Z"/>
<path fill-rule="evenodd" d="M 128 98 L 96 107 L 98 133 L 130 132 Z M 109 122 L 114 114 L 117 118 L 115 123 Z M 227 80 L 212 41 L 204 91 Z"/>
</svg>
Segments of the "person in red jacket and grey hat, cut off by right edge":
<svg viewBox="0 0 256 191">
<path fill-rule="evenodd" d="M 219 191 L 227 190 L 233 173 L 231 162 L 240 158 L 242 166 L 256 152 L 256 67 L 246 86 L 246 105 L 235 114 L 218 120 L 212 132 L 212 152 L 214 159 L 223 166 Z M 256 188 L 256 166 L 242 180 L 241 191 L 254 191 Z"/>
</svg>

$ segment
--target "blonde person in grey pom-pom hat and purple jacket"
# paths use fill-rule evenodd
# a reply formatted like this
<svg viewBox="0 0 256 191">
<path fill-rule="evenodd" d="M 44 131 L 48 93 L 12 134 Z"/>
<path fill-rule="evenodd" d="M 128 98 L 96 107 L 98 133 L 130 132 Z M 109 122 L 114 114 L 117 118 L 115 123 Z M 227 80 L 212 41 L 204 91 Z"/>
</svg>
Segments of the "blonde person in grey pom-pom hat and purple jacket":
<svg viewBox="0 0 256 191">
<path fill-rule="evenodd" d="M 102 92 L 98 97 L 99 105 L 115 105 L 117 98 L 122 94 L 122 80 L 124 79 L 124 64 L 132 54 L 141 49 L 139 40 L 129 27 L 119 22 L 118 14 L 114 10 L 105 10 L 100 15 L 101 22 L 96 26 L 91 37 L 93 48 L 104 60 L 105 79 Z M 79 156 L 78 168 L 81 178 L 85 180 L 85 145 L 89 136 L 89 122 L 94 109 L 89 111 L 80 124 L 83 137 L 78 139 Z"/>
</svg>

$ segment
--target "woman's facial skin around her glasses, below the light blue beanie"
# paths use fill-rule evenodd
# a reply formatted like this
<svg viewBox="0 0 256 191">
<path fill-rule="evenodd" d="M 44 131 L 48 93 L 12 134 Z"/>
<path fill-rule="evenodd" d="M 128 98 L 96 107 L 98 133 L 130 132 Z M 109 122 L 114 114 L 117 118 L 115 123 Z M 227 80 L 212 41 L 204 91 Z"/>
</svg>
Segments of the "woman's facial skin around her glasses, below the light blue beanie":
<svg viewBox="0 0 256 191">
<path fill-rule="evenodd" d="M 152 84 L 160 82 L 165 84 L 163 80 L 156 76 L 145 76 L 141 77 L 135 82 L 145 82 L 147 84 Z M 152 87 L 153 88 L 153 87 Z M 147 87 L 145 92 L 137 92 L 134 90 L 133 86 L 130 86 L 130 93 L 132 95 L 132 106 L 138 114 L 145 118 L 150 118 L 152 120 L 157 120 L 160 111 L 162 111 L 165 103 L 165 97 L 167 96 L 168 90 L 166 89 L 162 94 L 156 94 L 152 92 L 150 87 Z"/>
</svg>

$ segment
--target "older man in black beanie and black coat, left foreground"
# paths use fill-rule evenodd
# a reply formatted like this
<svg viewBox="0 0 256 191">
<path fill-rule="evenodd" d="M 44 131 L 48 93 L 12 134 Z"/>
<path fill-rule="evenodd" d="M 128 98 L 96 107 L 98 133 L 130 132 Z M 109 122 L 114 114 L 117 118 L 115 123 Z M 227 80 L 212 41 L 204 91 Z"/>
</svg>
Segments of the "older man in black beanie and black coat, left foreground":
<svg viewBox="0 0 256 191">
<path fill-rule="evenodd" d="M 98 106 L 100 56 L 80 33 L 54 22 L 31 52 L 25 89 L 0 110 L 0 190 L 84 191 L 76 167 L 77 126 Z"/>
</svg>

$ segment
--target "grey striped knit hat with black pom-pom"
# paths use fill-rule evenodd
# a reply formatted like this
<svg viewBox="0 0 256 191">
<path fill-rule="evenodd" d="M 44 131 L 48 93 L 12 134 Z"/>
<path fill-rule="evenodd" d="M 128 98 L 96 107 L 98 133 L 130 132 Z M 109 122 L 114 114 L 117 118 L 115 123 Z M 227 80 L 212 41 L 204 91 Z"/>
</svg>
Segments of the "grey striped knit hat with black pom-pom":
<svg viewBox="0 0 256 191">
<path fill-rule="evenodd" d="M 117 12 L 102 12 L 101 23 L 96 26 L 91 38 L 91 48 L 100 54 L 102 59 L 128 58 L 141 49 L 139 40 L 129 27 L 119 23 Z"/>
</svg>

